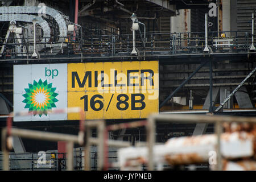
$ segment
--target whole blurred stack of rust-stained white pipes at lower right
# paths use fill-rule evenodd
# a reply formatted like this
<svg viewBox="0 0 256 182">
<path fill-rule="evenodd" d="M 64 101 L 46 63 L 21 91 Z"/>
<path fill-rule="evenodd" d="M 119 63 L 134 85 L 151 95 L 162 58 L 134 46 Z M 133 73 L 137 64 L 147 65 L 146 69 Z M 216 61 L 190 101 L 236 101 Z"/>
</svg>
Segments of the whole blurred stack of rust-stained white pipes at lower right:
<svg viewBox="0 0 256 182">
<path fill-rule="evenodd" d="M 230 123 L 225 124 L 224 129 L 226 133 L 221 134 L 220 142 L 221 155 L 225 159 L 223 169 L 256 169 L 256 161 L 253 159 L 256 154 L 256 125 Z M 215 134 L 171 138 L 165 144 L 154 146 L 154 163 L 168 163 L 172 166 L 208 163 L 211 160 L 210 157 L 216 154 L 216 147 L 217 136 Z M 147 163 L 147 151 L 147 147 L 128 147 L 119 150 L 121 169 L 130 168 L 130 162 L 134 159 L 140 159 L 137 160 L 137 165 Z M 239 159 L 238 162 L 232 162 L 232 160 Z M 241 165 L 246 165 L 246 167 Z"/>
</svg>

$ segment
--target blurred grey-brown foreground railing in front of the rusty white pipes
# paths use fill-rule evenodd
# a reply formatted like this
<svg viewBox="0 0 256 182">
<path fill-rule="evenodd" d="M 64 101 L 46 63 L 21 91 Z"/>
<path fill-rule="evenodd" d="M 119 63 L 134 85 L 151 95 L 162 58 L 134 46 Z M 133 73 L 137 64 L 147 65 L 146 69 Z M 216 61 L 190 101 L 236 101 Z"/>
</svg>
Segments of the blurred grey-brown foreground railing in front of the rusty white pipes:
<svg viewBox="0 0 256 182">
<path fill-rule="evenodd" d="M 156 122 L 176 122 L 176 123 L 214 123 L 214 133 L 216 135 L 216 157 L 217 165 L 215 170 L 222 170 L 222 158 L 221 153 L 221 134 L 224 123 L 256 123 L 255 117 L 234 117 L 225 115 L 196 115 L 196 114 L 152 114 L 148 118 L 147 123 L 147 150 L 148 150 L 148 169 L 154 170 L 154 145 L 155 145 L 155 125 Z M 248 130 L 248 129 L 247 129 Z M 255 135 L 253 134 L 253 140 Z M 205 144 L 206 145 L 206 144 Z M 223 147 L 223 146 L 222 146 Z M 254 153 L 254 147 L 252 148 Z M 229 154 L 228 154 L 229 155 Z M 254 154 L 253 154 L 254 155 Z M 254 162 L 255 163 L 255 162 Z"/>
</svg>

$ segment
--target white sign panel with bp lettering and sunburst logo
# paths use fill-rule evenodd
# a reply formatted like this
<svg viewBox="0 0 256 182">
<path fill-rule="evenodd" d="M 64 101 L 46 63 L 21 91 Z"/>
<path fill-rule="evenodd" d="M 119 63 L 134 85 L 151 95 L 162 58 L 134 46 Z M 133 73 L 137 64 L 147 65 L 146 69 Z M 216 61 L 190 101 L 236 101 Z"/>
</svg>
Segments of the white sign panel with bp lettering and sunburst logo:
<svg viewBox="0 0 256 182">
<path fill-rule="evenodd" d="M 67 120 L 67 64 L 14 65 L 14 121 Z"/>
</svg>

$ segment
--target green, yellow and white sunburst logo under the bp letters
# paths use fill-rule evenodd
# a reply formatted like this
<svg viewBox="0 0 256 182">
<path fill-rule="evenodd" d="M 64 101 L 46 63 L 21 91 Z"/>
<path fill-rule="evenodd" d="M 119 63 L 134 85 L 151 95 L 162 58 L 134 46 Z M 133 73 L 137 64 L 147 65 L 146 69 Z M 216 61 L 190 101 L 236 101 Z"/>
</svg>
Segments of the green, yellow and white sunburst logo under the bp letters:
<svg viewBox="0 0 256 182">
<path fill-rule="evenodd" d="M 56 107 L 55 102 L 59 101 L 56 99 L 59 94 L 55 93 L 55 90 L 56 88 L 52 88 L 52 83 L 48 84 L 47 80 L 44 82 L 41 79 L 38 82 L 34 80 L 33 85 L 28 84 L 26 93 L 22 95 L 25 97 L 22 101 L 26 104 L 24 108 L 28 108 L 28 112 L 33 112 L 34 116 L 47 115 L 47 111 Z"/>
</svg>

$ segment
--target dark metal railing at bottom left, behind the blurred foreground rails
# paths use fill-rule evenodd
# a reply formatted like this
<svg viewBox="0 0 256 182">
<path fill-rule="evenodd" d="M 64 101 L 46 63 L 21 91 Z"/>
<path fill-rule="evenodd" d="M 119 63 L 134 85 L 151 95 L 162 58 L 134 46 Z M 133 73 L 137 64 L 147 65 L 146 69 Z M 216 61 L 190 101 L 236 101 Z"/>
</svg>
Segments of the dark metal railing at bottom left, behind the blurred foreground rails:
<svg viewBox="0 0 256 182">
<path fill-rule="evenodd" d="M 10 153 L 10 171 L 65 171 L 67 170 L 67 153 L 46 152 L 44 163 L 40 155 L 36 152 L 31 153 Z M 0 170 L 3 170 L 3 155 L 0 154 Z M 108 152 L 108 160 L 117 161 L 117 151 Z M 97 151 L 90 152 L 91 170 L 97 170 Z M 22 163 L 21 166 L 19 163 Z M 76 171 L 84 170 L 84 150 L 73 150 L 73 169 Z M 112 167 L 111 169 L 118 169 Z"/>
</svg>

